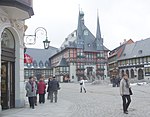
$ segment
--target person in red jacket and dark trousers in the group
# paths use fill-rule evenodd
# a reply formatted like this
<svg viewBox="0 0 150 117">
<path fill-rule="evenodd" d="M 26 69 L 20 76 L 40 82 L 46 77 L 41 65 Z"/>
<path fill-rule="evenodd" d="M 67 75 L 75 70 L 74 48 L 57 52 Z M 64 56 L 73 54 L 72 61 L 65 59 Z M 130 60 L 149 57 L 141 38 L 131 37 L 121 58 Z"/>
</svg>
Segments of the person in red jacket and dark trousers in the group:
<svg viewBox="0 0 150 117">
<path fill-rule="evenodd" d="M 38 94 L 39 94 L 39 103 L 45 103 L 45 89 L 46 84 L 43 78 L 40 78 L 38 83 Z"/>
</svg>

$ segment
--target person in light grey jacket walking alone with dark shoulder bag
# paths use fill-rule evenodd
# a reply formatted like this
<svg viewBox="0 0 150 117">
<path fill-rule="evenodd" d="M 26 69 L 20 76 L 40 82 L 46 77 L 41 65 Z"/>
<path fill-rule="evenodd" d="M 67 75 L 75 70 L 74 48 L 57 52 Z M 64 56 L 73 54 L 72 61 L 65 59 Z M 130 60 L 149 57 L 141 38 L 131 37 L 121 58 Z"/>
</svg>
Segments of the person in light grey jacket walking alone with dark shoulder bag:
<svg viewBox="0 0 150 117">
<path fill-rule="evenodd" d="M 120 81 L 120 95 L 122 96 L 124 114 L 128 114 L 128 107 L 131 103 L 129 88 L 130 84 L 128 80 L 128 75 L 124 74 L 123 78 Z"/>
</svg>

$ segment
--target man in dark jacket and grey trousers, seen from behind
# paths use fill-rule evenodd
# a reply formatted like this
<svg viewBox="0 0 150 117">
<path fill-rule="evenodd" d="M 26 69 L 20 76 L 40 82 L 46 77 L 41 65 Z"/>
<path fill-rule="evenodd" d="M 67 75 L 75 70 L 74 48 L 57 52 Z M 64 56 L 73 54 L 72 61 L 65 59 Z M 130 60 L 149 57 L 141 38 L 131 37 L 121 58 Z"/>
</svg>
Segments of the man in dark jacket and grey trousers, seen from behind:
<svg viewBox="0 0 150 117">
<path fill-rule="evenodd" d="M 57 102 L 57 94 L 58 90 L 60 89 L 59 82 L 56 80 L 55 76 L 53 76 L 53 79 L 51 82 L 49 82 L 49 90 L 48 92 L 50 93 L 50 102 L 53 102 L 53 95 L 55 98 L 55 103 Z"/>
</svg>

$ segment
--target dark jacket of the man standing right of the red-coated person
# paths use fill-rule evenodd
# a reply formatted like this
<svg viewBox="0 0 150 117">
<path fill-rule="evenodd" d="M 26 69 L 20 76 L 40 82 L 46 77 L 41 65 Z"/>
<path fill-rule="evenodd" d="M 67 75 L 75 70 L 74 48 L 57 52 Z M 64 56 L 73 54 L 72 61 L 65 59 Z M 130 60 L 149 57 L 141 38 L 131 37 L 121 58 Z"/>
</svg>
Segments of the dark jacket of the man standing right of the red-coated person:
<svg viewBox="0 0 150 117">
<path fill-rule="evenodd" d="M 53 79 L 48 83 L 48 92 L 59 90 L 59 82 L 56 79 Z"/>
</svg>

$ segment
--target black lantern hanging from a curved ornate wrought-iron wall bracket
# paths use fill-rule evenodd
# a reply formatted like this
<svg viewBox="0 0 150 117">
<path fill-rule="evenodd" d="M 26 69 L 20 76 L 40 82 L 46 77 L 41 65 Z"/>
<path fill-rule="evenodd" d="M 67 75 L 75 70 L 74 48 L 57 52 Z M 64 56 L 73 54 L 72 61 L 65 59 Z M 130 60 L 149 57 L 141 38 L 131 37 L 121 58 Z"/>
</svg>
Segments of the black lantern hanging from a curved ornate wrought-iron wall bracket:
<svg viewBox="0 0 150 117">
<path fill-rule="evenodd" d="M 27 45 L 34 45 L 36 43 L 36 39 L 39 38 L 39 36 L 42 36 L 42 35 L 44 35 L 45 38 L 46 38 L 45 41 L 43 41 L 44 48 L 48 49 L 50 41 L 48 41 L 47 31 L 43 27 L 36 28 L 34 35 L 25 35 L 24 43 L 27 44 Z"/>
</svg>

